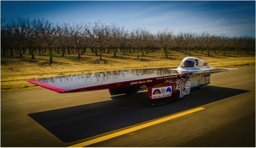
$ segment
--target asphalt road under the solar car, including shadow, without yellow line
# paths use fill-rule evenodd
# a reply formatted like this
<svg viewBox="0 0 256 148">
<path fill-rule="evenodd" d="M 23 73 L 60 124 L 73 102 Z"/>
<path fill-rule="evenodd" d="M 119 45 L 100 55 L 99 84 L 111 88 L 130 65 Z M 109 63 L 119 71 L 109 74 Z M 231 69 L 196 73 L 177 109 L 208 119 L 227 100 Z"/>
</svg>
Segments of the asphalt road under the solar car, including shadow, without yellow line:
<svg viewBox="0 0 256 148">
<path fill-rule="evenodd" d="M 1 92 L 1 147 L 68 147 L 198 107 L 86 147 L 256 147 L 256 66 L 211 75 L 211 84 L 151 107 L 147 92 L 58 94 L 44 88 Z"/>
</svg>

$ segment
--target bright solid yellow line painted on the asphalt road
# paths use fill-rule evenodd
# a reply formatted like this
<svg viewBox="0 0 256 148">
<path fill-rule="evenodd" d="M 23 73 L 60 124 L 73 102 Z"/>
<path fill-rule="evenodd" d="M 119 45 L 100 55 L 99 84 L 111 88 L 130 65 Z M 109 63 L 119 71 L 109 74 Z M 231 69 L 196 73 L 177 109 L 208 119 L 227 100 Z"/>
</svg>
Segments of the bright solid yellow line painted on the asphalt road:
<svg viewBox="0 0 256 148">
<path fill-rule="evenodd" d="M 178 117 L 181 117 L 183 115 L 188 115 L 190 113 L 194 113 L 194 112 L 200 111 L 202 109 L 205 109 L 205 108 L 199 107 L 199 108 L 196 108 L 196 109 L 192 109 L 190 111 L 185 111 L 183 113 L 172 115 L 170 117 L 166 117 L 166 118 L 159 119 L 159 120 L 156 120 L 156 121 L 152 121 L 152 122 L 149 122 L 149 123 L 146 123 L 146 124 L 135 126 L 135 127 L 126 129 L 124 131 L 119 131 L 117 133 L 113 133 L 113 134 L 110 134 L 110 135 L 106 135 L 106 136 L 103 136 L 103 137 L 99 137 L 99 138 L 96 138 L 96 139 L 85 141 L 85 142 L 82 142 L 80 144 L 75 144 L 73 146 L 68 146 L 67 148 L 82 148 L 84 146 L 95 144 L 95 143 L 98 143 L 98 142 L 101 142 L 101 141 L 104 141 L 104 140 L 107 140 L 107 139 L 111 139 L 111 138 L 114 138 L 114 137 L 117 137 L 117 136 L 120 136 L 120 135 L 124 135 L 124 134 L 130 133 L 130 132 L 133 132 L 133 131 L 137 131 L 137 130 L 142 129 L 142 128 L 146 128 L 148 126 L 152 126 L 152 125 L 155 125 L 155 124 L 159 124 L 161 122 L 165 122 L 165 121 L 168 121 L 168 120 L 171 120 L 171 119 L 174 119 L 174 118 L 178 118 Z"/>
</svg>

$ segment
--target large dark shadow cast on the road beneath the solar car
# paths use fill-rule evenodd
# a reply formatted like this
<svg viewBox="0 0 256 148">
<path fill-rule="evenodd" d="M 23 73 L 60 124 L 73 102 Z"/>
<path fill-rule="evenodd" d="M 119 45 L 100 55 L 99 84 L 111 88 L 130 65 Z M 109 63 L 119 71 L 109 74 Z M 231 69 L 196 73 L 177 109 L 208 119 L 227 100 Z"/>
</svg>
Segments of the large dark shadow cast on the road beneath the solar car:
<svg viewBox="0 0 256 148">
<path fill-rule="evenodd" d="M 29 114 L 63 142 L 73 142 L 172 115 L 249 91 L 205 86 L 188 97 L 151 107 L 148 92 L 111 97 L 113 100 Z"/>
</svg>

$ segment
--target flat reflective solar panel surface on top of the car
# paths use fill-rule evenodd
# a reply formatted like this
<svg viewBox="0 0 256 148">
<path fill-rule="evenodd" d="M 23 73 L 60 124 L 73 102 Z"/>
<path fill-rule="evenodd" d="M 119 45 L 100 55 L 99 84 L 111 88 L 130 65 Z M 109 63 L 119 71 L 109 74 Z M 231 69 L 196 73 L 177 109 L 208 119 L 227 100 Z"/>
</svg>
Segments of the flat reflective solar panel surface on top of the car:
<svg viewBox="0 0 256 148">
<path fill-rule="evenodd" d="M 211 68 L 200 72 L 221 72 L 229 69 Z M 188 72 L 188 71 L 187 71 Z M 170 68 L 155 68 L 155 69 L 139 69 L 139 70 L 119 70 L 110 72 L 95 72 L 89 74 L 74 74 L 68 76 L 55 76 L 49 78 L 38 78 L 35 81 L 45 83 L 54 87 L 65 90 L 81 89 L 98 85 L 108 85 L 112 83 L 121 83 L 126 81 L 136 81 L 146 78 L 157 78 L 161 76 L 178 75 L 181 72 Z"/>
</svg>

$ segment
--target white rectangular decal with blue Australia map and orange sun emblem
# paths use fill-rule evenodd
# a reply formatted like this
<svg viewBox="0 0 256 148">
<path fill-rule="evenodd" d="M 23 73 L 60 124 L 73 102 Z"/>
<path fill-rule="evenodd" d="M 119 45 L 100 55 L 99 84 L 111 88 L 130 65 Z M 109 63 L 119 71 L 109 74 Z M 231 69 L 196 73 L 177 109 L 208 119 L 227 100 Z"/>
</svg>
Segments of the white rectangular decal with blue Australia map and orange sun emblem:
<svg viewBox="0 0 256 148">
<path fill-rule="evenodd" d="M 172 87 L 152 88 L 152 99 L 172 96 Z"/>
</svg>

